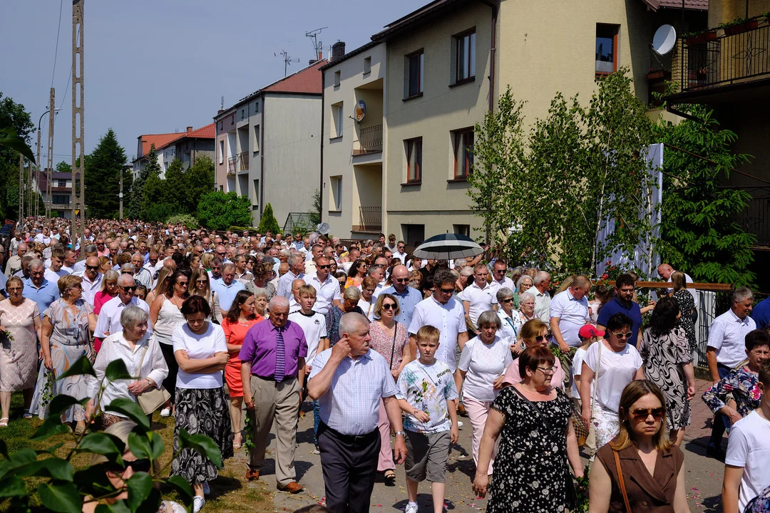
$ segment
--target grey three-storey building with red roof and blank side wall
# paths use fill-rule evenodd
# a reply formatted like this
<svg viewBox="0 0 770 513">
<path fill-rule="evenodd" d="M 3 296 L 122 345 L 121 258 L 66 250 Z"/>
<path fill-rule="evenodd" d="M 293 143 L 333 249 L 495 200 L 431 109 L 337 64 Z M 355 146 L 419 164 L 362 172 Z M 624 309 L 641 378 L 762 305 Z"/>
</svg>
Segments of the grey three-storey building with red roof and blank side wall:
<svg viewBox="0 0 770 513">
<path fill-rule="evenodd" d="M 254 225 L 270 203 L 283 226 L 291 213 L 310 209 L 320 187 L 324 64 L 259 88 L 214 117 L 216 188 L 248 197 Z"/>
</svg>

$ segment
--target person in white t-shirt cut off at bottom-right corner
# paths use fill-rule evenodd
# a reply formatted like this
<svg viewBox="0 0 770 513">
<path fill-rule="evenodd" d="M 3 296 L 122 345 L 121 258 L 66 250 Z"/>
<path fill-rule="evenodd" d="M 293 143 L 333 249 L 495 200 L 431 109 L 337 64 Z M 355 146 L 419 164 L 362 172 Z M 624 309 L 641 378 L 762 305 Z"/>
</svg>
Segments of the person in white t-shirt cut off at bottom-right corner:
<svg viewBox="0 0 770 513">
<path fill-rule="evenodd" d="M 762 362 L 758 377 L 757 388 L 762 393 L 759 408 L 730 430 L 722 481 L 725 513 L 745 511 L 748 502 L 770 486 L 770 360 Z"/>
</svg>

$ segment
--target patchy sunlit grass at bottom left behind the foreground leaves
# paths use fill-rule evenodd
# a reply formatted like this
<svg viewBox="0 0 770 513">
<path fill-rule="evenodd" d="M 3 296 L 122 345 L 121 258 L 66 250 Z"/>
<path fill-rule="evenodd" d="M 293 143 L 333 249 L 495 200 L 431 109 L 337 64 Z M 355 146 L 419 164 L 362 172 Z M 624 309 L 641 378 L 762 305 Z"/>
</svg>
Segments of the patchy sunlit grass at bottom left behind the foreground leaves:
<svg viewBox="0 0 770 513">
<path fill-rule="evenodd" d="M 42 421 L 35 417 L 32 420 L 22 418 L 24 403 L 22 394 L 14 394 L 11 401 L 11 421 L 7 428 L 0 428 L 0 440 L 5 441 L 8 446 L 8 453 L 13 453 L 23 448 L 31 448 L 40 451 L 49 448 L 52 445 L 62 443 L 62 447 L 56 450 L 59 458 L 65 458 L 69 451 L 75 446 L 75 435 L 57 435 L 45 441 L 32 441 L 32 435 L 40 427 Z M 174 443 L 174 420 L 173 418 L 161 418 L 156 412 L 152 415 L 152 430 L 155 431 L 166 444 L 166 451 L 160 458 L 161 466 L 165 466 L 172 457 Z M 2 458 L 2 456 L 0 456 Z M 75 467 L 75 471 L 80 468 L 88 467 L 91 464 L 92 455 L 90 453 L 79 453 L 73 455 L 70 462 Z M 169 471 L 164 472 L 164 477 L 168 476 Z M 225 466 L 219 471 L 219 478 L 212 483 L 211 495 L 206 496 L 206 506 L 204 513 L 243 513 L 243 511 L 253 511 L 254 513 L 273 512 L 273 498 L 270 491 L 263 481 L 249 483 L 246 481 L 246 458 L 243 449 L 236 452 L 234 458 L 225 461 Z M 25 478 L 28 489 L 36 488 L 40 483 L 47 481 L 47 478 Z M 173 491 L 163 491 L 164 499 L 176 500 L 176 493 Z M 0 511 L 8 510 L 8 500 L 0 500 Z"/>
</svg>

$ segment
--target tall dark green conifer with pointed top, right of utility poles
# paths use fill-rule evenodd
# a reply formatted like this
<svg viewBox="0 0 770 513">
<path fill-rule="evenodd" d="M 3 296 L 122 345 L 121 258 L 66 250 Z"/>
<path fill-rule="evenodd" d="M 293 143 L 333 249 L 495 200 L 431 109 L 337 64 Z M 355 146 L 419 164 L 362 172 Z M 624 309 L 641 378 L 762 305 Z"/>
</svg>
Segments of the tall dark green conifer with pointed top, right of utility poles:
<svg viewBox="0 0 770 513">
<path fill-rule="evenodd" d="M 85 208 L 89 217 L 118 217 L 120 170 L 126 162 L 126 150 L 109 128 L 85 159 Z"/>
</svg>

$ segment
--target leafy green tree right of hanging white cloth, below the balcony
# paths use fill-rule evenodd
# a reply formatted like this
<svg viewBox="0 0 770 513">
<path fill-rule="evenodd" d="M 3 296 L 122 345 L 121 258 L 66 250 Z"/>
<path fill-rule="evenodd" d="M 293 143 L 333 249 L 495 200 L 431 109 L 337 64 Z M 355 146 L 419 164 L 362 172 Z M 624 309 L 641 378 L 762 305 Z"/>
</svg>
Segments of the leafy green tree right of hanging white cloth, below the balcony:
<svg viewBox="0 0 770 513">
<path fill-rule="evenodd" d="M 700 121 L 684 119 L 674 125 L 661 119 L 655 127 L 665 144 L 661 258 L 695 281 L 752 285 L 756 275 L 748 267 L 756 239 L 735 222 L 751 196 L 719 187 L 750 155 L 731 151 L 738 136 L 720 128 L 711 110 L 703 105 L 682 108 Z"/>
</svg>

